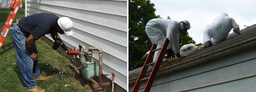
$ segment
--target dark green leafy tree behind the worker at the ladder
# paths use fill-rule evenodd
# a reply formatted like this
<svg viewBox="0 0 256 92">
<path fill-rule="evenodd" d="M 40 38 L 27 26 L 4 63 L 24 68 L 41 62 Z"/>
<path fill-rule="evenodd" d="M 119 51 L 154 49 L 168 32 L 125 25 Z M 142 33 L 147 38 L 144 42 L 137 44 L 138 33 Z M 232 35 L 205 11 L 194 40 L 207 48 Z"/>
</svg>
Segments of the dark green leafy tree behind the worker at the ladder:
<svg viewBox="0 0 256 92">
<path fill-rule="evenodd" d="M 151 49 L 152 43 L 149 40 L 145 26 L 150 19 L 161 18 L 160 15 L 155 15 L 154 4 L 150 0 L 129 0 L 129 14 L 128 14 L 128 64 L 129 71 L 138 67 L 142 67 L 144 61 L 141 57 Z M 168 16 L 170 19 L 170 16 Z M 185 44 L 194 43 L 192 37 L 179 36 L 179 45 L 182 47 Z"/>
</svg>

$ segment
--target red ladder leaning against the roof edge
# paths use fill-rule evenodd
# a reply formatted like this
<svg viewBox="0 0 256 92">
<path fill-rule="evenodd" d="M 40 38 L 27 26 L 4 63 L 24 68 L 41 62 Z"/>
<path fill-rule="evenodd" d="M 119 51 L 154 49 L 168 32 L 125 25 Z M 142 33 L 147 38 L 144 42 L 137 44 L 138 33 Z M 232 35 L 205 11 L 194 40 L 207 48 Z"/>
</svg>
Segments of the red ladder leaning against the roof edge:
<svg viewBox="0 0 256 92">
<path fill-rule="evenodd" d="M 166 49 L 168 47 L 168 44 L 169 44 L 168 38 L 165 39 L 162 48 L 156 49 L 156 44 L 153 44 L 153 46 L 150 49 L 150 52 L 148 54 L 148 57 L 147 57 L 144 65 L 143 65 L 143 67 L 141 69 L 141 73 L 140 73 L 140 75 L 139 75 L 139 77 L 138 77 L 138 79 L 137 79 L 137 81 L 135 83 L 135 86 L 134 86 L 132 92 L 138 92 L 139 91 L 139 88 L 141 86 L 141 82 L 143 80 L 148 80 L 148 82 L 146 84 L 146 87 L 145 87 L 143 92 L 149 92 L 150 91 L 150 88 L 151 88 L 151 86 L 152 86 L 152 84 L 154 82 L 156 73 L 158 72 L 160 64 L 161 64 L 161 62 L 163 60 L 163 56 L 165 55 Z M 157 60 L 155 62 L 150 63 L 152 61 L 152 58 L 153 58 L 153 55 L 154 55 L 155 51 L 156 50 L 160 50 L 160 49 L 161 49 L 161 51 L 160 51 L 160 53 L 159 53 L 159 55 L 157 57 Z M 154 63 L 155 63 L 155 65 L 153 67 L 153 70 L 152 70 L 150 76 L 148 78 L 144 78 L 144 76 L 145 76 L 145 74 L 147 72 L 148 66 L 151 65 L 151 64 L 154 64 Z"/>
</svg>

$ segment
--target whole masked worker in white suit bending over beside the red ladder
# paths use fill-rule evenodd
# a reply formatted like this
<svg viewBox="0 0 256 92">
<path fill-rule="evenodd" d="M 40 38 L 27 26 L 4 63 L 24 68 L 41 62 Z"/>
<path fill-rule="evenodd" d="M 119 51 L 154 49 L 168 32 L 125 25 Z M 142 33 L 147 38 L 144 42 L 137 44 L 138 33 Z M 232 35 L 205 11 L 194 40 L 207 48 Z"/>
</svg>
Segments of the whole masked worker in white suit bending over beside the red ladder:
<svg viewBox="0 0 256 92">
<path fill-rule="evenodd" d="M 165 38 L 168 38 L 170 42 L 167 47 L 166 59 L 169 59 L 174 58 L 175 55 L 181 56 L 179 53 L 179 33 L 187 35 L 187 30 L 190 28 L 188 20 L 178 22 L 171 19 L 154 18 L 148 21 L 145 30 L 150 41 L 157 45 L 156 49 L 162 48 Z M 172 48 L 174 48 L 175 55 Z M 141 58 L 142 61 L 146 60 L 148 53 L 149 51 Z M 156 61 L 159 53 L 160 50 L 155 51 L 153 62 Z"/>
</svg>

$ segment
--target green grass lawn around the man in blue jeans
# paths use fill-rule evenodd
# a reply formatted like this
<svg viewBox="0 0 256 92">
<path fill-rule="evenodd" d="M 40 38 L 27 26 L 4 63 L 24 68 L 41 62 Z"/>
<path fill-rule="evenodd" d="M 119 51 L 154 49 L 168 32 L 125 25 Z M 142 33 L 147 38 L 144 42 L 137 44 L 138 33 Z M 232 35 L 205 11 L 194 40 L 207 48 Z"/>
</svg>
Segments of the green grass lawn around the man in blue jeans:
<svg viewBox="0 0 256 92">
<path fill-rule="evenodd" d="M 24 0 L 25 1 L 25 0 Z M 25 7 L 25 5 L 23 6 Z M 13 23 L 17 18 L 24 17 L 25 8 L 19 9 Z M 5 23 L 10 9 L 0 9 L 0 26 Z M 36 82 L 37 86 L 46 89 L 47 92 L 105 92 L 104 89 L 95 88 L 95 80 L 85 80 L 77 72 L 78 70 L 66 57 L 53 50 L 51 46 L 39 39 L 36 41 L 38 49 L 38 65 L 42 76 L 52 76 L 48 82 Z M 16 63 L 13 65 L 12 63 Z M 48 65 L 46 65 L 48 64 Z M 66 75 L 53 74 L 54 68 L 64 67 Z M 70 87 L 65 87 L 70 85 Z M 11 32 L 5 39 L 0 49 L 0 92 L 25 92 L 24 83 L 20 75 Z"/>
</svg>

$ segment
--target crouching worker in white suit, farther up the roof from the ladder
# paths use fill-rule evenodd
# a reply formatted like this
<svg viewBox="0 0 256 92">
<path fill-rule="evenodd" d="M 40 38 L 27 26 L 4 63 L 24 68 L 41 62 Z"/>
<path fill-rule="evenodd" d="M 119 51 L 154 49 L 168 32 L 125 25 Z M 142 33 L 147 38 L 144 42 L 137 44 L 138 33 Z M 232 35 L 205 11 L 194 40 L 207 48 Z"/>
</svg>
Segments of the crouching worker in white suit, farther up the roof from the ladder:
<svg viewBox="0 0 256 92">
<path fill-rule="evenodd" d="M 240 33 L 239 25 L 227 13 L 217 16 L 203 31 L 204 48 L 226 40 L 232 28 L 235 33 Z"/>
</svg>

